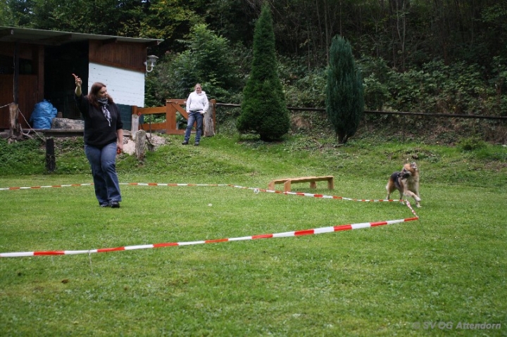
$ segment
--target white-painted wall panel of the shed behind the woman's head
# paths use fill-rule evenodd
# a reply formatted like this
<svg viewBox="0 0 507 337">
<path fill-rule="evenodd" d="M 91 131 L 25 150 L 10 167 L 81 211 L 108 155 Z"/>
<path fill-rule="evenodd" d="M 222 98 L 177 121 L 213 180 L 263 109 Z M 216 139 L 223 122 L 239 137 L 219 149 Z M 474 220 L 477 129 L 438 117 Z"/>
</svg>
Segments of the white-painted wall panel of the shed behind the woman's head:
<svg viewBox="0 0 507 337">
<path fill-rule="evenodd" d="M 144 108 L 144 72 L 89 63 L 88 90 L 95 82 L 106 84 L 115 103 Z"/>
</svg>

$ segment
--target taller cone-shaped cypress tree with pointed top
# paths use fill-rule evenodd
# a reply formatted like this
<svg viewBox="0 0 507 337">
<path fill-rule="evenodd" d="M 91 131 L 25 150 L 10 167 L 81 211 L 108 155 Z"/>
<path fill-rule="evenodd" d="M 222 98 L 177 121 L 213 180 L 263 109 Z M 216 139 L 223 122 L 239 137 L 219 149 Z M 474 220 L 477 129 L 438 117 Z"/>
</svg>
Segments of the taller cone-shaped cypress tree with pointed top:
<svg viewBox="0 0 507 337">
<path fill-rule="evenodd" d="M 243 89 L 237 129 L 241 133 L 256 133 L 263 141 L 275 141 L 287 134 L 289 128 L 289 110 L 277 72 L 273 19 L 265 3 L 253 32 L 253 60 Z"/>
</svg>

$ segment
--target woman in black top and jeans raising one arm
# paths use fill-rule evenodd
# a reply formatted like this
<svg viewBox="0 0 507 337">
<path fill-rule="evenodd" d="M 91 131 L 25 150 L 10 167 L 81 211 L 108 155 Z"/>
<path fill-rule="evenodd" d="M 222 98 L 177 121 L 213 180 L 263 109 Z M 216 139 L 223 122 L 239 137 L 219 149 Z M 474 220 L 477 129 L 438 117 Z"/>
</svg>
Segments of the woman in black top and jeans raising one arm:
<svg viewBox="0 0 507 337">
<path fill-rule="evenodd" d="M 89 94 L 83 96 L 82 80 L 74 77 L 75 101 L 84 118 L 84 153 L 92 167 L 95 196 L 101 207 L 119 208 L 122 198 L 116 154 L 123 151 L 120 110 L 108 95 L 106 84 L 95 82 Z"/>
</svg>

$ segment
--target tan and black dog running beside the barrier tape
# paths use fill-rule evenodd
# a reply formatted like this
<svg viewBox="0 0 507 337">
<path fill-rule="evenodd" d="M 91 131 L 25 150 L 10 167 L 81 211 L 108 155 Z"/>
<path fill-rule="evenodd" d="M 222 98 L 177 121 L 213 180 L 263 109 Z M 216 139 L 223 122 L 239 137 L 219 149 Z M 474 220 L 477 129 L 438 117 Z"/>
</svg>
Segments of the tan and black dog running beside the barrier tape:
<svg viewBox="0 0 507 337">
<path fill-rule="evenodd" d="M 386 189 L 387 200 L 389 200 L 391 193 L 397 189 L 400 193 L 401 202 L 403 202 L 403 196 L 412 197 L 417 207 L 421 207 L 419 203 L 421 200 L 419 196 L 419 170 L 415 163 L 405 164 L 401 172 L 391 174 Z"/>
</svg>

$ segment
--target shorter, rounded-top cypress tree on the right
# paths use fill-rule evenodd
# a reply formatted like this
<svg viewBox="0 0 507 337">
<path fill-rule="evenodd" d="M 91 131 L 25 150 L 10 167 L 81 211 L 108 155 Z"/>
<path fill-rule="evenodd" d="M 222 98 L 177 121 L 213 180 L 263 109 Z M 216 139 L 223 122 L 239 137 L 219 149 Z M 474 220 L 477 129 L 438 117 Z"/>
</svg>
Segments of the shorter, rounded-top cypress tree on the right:
<svg viewBox="0 0 507 337">
<path fill-rule="evenodd" d="M 349 42 L 333 37 L 327 68 L 326 113 L 339 144 L 353 136 L 364 112 L 363 79 Z"/>
</svg>

